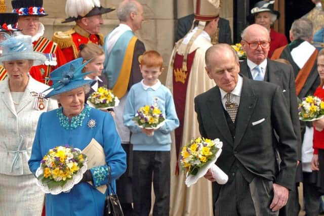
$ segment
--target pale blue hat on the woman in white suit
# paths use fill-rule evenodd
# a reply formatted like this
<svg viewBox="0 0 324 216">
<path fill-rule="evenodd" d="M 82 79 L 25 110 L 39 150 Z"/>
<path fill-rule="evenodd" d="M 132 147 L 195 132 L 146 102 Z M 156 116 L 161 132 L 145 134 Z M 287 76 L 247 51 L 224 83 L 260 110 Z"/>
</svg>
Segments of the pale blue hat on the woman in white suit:
<svg viewBox="0 0 324 216">
<path fill-rule="evenodd" d="M 0 42 L 2 55 L 0 64 L 5 61 L 33 60 L 33 65 L 41 65 L 46 61 L 43 53 L 34 52 L 30 35 L 11 36 L 5 34 L 5 40 Z"/>
</svg>

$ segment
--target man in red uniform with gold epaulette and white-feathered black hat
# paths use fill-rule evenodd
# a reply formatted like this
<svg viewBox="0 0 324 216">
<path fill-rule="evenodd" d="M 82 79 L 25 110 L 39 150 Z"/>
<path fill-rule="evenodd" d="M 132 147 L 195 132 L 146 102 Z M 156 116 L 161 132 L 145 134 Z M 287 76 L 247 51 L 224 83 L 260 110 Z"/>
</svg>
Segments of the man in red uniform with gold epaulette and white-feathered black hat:
<svg viewBox="0 0 324 216">
<path fill-rule="evenodd" d="M 103 45 L 103 35 L 100 34 L 100 26 L 103 24 L 101 15 L 113 10 L 115 9 L 101 7 L 100 1 L 95 0 L 66 1 L 65 13 L 68 18 L 62 23 L 75 21 L 76 25 L 68 31 L 55 32 L 53 40 L 60 46 L 67 61 L 77 57 L 82 44 L 93 42 Z"/>
</svg>

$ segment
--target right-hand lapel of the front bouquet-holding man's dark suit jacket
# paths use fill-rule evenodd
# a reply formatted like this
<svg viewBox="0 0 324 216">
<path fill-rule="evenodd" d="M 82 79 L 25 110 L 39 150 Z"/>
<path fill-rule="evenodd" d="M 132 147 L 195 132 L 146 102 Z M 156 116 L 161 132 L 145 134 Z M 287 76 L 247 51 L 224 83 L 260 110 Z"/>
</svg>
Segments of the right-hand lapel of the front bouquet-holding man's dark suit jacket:
<svg viewBox="0 0 324 216">
<path fill-rule="evenodd" d="M 240 143 L 243 135 L 245 134 L 258 100 L 258 97 L 254 94 L 249 82 L 251 82 L 251 80 L 243 77 L 243 87 L 235 120 L 236 127 L 234 148 Z"/>
</svg>

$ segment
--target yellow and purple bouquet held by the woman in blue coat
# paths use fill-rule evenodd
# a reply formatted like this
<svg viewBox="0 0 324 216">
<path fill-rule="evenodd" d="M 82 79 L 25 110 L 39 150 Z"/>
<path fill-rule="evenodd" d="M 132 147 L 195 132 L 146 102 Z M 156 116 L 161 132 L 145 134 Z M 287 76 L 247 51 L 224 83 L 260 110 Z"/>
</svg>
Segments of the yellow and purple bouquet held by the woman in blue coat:
<svg viewBox="0 0 324 216">
<path fill-rule="evenodd" d="M 87 170 L 86 155 L 68 145 L 50 149 L 36 170 L 37 185 L 45 193 L 59 194 L 79 183 Z"/>
</svg>

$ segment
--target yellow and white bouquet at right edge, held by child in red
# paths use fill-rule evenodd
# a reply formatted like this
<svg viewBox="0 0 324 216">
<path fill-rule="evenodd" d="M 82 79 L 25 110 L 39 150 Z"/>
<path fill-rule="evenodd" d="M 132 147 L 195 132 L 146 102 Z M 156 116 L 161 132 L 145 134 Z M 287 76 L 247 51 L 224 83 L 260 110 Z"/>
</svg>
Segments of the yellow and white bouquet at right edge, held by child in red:
<svg viewBox="0 0 324 216">
<path fill-rule="evenodd" d="M 315 96 L 307 96 L 298 106 L 299 119 L 314 121 L 324 116 L 324 102 Z"/>
</svg>

